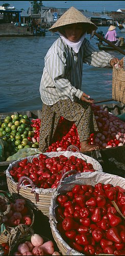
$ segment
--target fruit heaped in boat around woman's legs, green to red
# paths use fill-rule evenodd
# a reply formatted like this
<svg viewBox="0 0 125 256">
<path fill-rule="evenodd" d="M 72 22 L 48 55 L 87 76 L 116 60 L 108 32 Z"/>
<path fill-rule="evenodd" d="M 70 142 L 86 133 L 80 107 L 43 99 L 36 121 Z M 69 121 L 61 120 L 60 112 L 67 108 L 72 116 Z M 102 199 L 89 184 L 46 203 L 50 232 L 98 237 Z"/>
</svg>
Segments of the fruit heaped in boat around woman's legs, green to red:
<svg viewBox="0 0 125 256">
<path fill-rule="evenodd" d="M 89 144 L 99 148 L 116 147 L 125 144 L 125 123 L 118 117 L 103 110 L 101 105 L 91 104 L 98 126 L 98 132 L 89 137 Z M 0 139 L 4 143 L 6 160 L 22 148 L 39 147 L 39 131 L 41 120 L 32 119 L 27 115 L 15 114 L 0 120 Z M 0 141 L 1 142 L 1 141 Z M 75 145 L 80 150 L 80 140 L 76 124 L 60 118 L 53 143 L 46 152 L 66 151 L 69 145 Z"/>
</svg>

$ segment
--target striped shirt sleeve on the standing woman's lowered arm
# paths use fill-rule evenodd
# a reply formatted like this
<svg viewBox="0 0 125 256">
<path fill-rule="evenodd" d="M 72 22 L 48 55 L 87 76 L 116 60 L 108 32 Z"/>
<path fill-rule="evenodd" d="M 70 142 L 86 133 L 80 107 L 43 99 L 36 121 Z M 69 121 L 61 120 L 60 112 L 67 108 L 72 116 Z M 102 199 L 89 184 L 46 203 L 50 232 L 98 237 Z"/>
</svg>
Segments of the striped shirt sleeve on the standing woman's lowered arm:
<svg viewBox="0 0 125 256">
<path fill-rule="evenodd" d="M 62 55 L 52 53 L 51 57 L 46 60 L 46 69 L 60 95 L 67 96 L 71 101 L 74 101 L 75 97 L 81 99 L 83 92 L 72 86 L 65 75 L 66 57 L 63 53 Z"/>
</svg>

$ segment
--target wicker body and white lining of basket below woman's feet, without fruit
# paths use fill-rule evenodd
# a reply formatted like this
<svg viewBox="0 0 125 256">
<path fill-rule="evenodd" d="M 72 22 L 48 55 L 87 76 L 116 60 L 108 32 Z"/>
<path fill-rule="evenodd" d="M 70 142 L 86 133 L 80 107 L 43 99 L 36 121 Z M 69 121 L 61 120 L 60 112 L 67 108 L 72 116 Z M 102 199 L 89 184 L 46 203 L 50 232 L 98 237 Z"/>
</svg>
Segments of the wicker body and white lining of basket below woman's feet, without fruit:
<svg viewBox="0 0 125 256">
<path fill-rule="evenodd" d="M 44 155 L 47 155 L 47 157 L 56 157 L 56 156 L 64 155 L 68 158 L 71 155 L 73 155 L 78 158 L 82 158 L 86 160 L 87 163 L 91 163 L 93 165 L 93 168 L 98 172 L 103 172 L 101 164 L 99 164 L 95 159 L 93 159 L 92 157 L 86 156 L 84 154 L 81 154 L 79 152 L 70 152 L 70 151 L 52 152 L 52 153 L 44 153 Z M 34 157 L 39 158 L 39 154 L 35 156 L 27 157 L 27 159 L 28 161 L 32 162 Z M 52 194 L 54 193 L 55 188 L 43 189 L 35 186 L 31 187 L 31 185 L 30 187 L 24 186 L 23 183 L 20 185 L 16 183 L 12 178 L 12 176 L 10 175 L 10 170 L 12 169 L 12 167 L 18 166 L 19 161 L 20 160 L 17 160 L 11 163 L 8 169 L 6 170 L 7 184 L 8 184 L 8 189 L 10 194 L 13 195 L 14 197 L 20 197 L 25 199 L 30 207 L 36 210 L 41 210 L 43 215 L 48 217 L 49 206 L 50 206 Z M 20 189 L 17 191 L 18 187 L 20 187 Z"/>
</svg>

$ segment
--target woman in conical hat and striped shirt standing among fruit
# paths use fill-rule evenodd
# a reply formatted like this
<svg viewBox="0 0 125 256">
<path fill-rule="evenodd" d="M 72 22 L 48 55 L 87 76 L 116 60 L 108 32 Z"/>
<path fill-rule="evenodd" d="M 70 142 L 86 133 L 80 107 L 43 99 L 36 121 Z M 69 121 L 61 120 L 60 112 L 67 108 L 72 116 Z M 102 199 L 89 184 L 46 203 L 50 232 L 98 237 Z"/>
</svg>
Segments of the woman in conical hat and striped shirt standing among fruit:
<svg viewBox="0 0 125 256">
<path fill-rule="evenodd" d="M 39 147 L 45 152 L 53 142 L 60 117 L 73 121 L 78 130 L 81 152 L 97 150 L 97 145 L 89 145 L 91 133 L 98 131 L 91 109 L 94 102 L 81 90 L 83 62 L 93 67 L 110 68 L 118 58 L 98 52 L 86 39 L 86 34 L 97 27 L 80 11 L 71 7 L 49 31 L 60 34 L 48 50 L 40 82 L 42 117 Z M 122 65 L 122 60 L 120 64 Z M 67 143 L 68 145 L 68 143 Z M 59 145 L 61 146 L 61 145 Z"/>
</svg>

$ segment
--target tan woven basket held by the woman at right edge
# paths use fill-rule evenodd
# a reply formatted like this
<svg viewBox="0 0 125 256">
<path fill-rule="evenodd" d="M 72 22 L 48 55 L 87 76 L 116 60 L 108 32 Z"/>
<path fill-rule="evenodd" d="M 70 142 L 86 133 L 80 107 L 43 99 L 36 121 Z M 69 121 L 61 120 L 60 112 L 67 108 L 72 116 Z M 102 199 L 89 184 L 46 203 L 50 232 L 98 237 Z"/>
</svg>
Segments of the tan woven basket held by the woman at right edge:
<svg viewBox="0 0 125 256">
<path fill-rule="evenodd" d="M 125 104 L 125 70 L 113 67 L 112 98 Z"/>
</svg>

